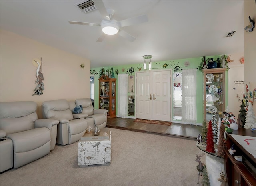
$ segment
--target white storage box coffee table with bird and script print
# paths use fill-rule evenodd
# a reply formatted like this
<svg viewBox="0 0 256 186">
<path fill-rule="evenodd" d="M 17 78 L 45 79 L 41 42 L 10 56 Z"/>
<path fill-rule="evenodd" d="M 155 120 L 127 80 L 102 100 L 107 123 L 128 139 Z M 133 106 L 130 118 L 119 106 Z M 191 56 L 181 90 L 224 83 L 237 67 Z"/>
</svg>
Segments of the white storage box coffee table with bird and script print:
<svg viewBox="0 0 256 186">
<path fill-rule="evenodd" d="M 109 165 L 110 162 L 111 131 L 102 129 L 99 136 L 85 133 L 78 142 L 78 166 Z"/>
</svg>

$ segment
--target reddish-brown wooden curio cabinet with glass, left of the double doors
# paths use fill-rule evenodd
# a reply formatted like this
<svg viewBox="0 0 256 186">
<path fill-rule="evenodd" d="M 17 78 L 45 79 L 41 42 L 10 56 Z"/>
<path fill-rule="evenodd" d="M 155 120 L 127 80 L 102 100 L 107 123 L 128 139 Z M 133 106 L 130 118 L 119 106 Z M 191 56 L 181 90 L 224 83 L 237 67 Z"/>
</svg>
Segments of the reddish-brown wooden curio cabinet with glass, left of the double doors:
<svg viewBox="0 0 256 186">
<path fill-rule="evenodd" d="M 108 110 L 108 118 L 116 117 L 116 79 L 101 76 L 99 79 L 99 108 Z"/>
</svg>

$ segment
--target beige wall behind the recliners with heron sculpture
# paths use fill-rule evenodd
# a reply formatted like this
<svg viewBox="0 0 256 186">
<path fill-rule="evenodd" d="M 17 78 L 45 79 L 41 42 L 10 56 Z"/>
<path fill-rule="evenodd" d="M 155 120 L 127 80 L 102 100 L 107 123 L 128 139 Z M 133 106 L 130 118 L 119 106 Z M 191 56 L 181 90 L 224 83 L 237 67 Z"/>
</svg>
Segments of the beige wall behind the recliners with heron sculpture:
<svg viewBox="0 0 256 186">
<path fill-rule="evenodd" d="M 90 98 L 90 60 L 6 30 L 1 30 L 0 46 L 1 102 L 35 101 L 42 118 L 41 104 L 46 100 Z M 45 91 L 32 96 L 36 88 L 32 59 L 41 57 Z"/>
</svg>

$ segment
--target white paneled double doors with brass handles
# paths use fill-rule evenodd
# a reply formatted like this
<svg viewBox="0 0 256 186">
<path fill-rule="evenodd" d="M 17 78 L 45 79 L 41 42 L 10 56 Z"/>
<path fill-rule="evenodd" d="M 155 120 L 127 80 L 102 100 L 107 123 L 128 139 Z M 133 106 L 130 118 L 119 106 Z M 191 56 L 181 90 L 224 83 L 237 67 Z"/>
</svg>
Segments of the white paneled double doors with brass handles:
<svg viewBox="0 0 256 186">
<path fill-rule="evenodd" d="M 136 118 L 171 121 L 171 71 L 136 74 Z"/>
</svg>

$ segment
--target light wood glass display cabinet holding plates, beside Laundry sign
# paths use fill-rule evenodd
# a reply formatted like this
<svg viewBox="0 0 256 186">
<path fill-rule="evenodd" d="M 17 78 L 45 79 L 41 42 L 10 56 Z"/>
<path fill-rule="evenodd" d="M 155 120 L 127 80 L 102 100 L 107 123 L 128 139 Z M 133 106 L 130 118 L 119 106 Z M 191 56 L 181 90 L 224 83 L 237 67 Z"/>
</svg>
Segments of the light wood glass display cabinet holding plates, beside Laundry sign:
<svg viewBox="0 0 256 186">
<path fill-rule="evenodd" d="M 204 69 L 204 120 L 210 121 L 212 113 L 216 119 L 223 117 L 225 111 L 225 71 L 227 68 Z"/>
</svg>

